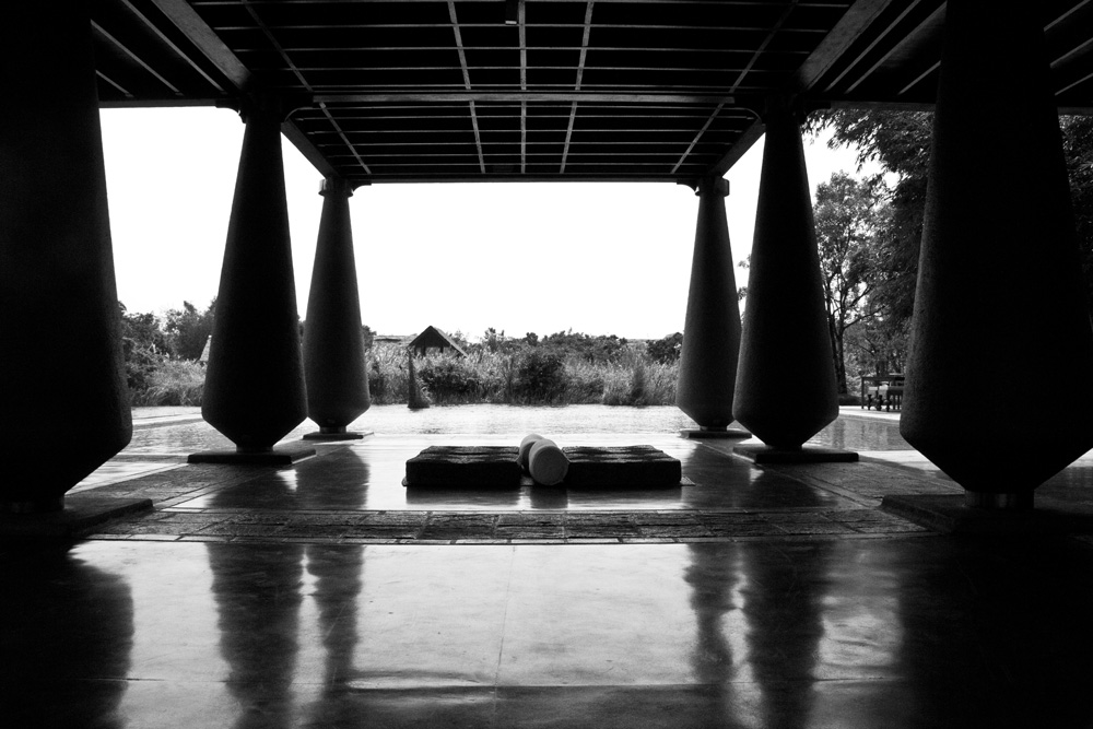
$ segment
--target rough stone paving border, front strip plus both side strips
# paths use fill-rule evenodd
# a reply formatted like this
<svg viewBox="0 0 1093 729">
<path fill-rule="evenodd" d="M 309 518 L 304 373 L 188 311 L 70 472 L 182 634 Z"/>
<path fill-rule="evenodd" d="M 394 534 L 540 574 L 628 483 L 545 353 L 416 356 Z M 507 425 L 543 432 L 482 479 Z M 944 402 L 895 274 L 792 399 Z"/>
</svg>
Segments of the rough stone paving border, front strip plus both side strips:
<svg viewBox="0 0 1093 729">
<path fill-rule="evenodd" d="M 319 458 L 342 445 L 324 447 Z M 727 456 L 729 457 L 729 456 Z M 879 509 L 892 493 L 947 494 L 951 482 L 886 463 L 766 467 L 851 502 L 851 508 L 666 510 L 277 510 L 188 508 L 269 467 L 187 465 L 104 485 L 93 493 L 144 497 L 157 510 L 104 525 L 91 539 L 379 544 L 677 543 L 753 539 L 847 539 L 935 533 Z"/>
</svg>

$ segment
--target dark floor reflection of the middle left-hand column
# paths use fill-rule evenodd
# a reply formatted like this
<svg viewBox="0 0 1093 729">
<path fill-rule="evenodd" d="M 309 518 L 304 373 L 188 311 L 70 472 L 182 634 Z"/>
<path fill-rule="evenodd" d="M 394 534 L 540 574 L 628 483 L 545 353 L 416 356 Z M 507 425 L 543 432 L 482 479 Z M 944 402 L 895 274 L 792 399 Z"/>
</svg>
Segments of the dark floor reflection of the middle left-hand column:
<svg viewBox="0 0 1093 729">
<path fill-rule="evenodd" d="M 287 497 L 289 485 L 280 486 Z M 215 504 L 215 502 L 214 502 Z M 236 729 L 295 726 L 303 544 L 209 543 L 212 593 L 227 687 L 243 707 Z"/>
</svg>

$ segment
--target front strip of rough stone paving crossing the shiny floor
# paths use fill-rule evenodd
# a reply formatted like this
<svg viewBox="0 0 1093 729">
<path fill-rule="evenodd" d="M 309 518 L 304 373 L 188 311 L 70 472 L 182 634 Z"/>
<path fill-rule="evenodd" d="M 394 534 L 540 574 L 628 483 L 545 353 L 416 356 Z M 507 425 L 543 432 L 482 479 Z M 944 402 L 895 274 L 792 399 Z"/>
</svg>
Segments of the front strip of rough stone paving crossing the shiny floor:
<svg viewBox="0 0 1093 729">
<path fill-rule="evenodd" d="M 92 539 L 397 544 L 650 543 L 928 530 L 874 509 L 771 512 L 156 512 Z"/>
</svg>

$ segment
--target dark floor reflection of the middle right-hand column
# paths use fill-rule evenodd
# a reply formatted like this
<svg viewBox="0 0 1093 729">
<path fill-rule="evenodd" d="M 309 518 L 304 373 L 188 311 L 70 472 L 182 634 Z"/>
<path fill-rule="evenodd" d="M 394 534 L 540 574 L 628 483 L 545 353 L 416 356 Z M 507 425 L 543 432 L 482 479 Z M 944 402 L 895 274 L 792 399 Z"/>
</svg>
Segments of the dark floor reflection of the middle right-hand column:
<svg viewBox="0 0 1093 729">
<path fill-rule="evenodd" d="M 748 661 L 761 694 L 753 709 L 757 726 L 809 726 L 832 544 L 741 544 Z"/>
</svg>

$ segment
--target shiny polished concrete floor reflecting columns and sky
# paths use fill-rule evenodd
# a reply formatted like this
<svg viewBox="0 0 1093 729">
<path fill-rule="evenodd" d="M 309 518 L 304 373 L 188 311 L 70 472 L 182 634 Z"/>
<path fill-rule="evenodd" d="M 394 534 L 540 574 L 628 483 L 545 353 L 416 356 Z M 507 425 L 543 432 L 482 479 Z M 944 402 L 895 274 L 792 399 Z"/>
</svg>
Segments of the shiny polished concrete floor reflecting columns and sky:
<svg viewBox="0 0 1093 729">
<path fill-rule="evenodd" d="M 124 456 L 84 490 L 153 513 L 0 545 L 0 726 L 1093 727 L 1083 538 L 889 515 L 960 493 L 905 449 L 760 468 L 642 434 L 687 485 L 399 483 L 425 445 L 512 437 L 379 433 L 282 469 Z M 1083 461 L 1045 489 L 1091 485 Z"/>
</svg>

